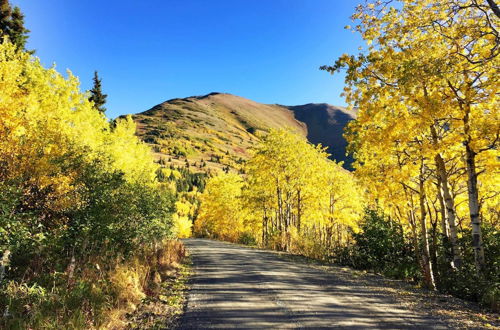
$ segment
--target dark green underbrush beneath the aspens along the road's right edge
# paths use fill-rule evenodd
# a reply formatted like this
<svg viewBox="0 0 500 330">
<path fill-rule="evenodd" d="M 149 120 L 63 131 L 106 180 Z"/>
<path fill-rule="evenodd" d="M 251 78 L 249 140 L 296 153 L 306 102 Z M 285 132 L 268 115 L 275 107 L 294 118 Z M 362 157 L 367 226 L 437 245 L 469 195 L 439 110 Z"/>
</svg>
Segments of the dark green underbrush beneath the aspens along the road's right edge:
<svg viewBox="0 0 500 330">
<path fill-rule="evenodd" d="M 452 269 L 449 258 L 444 257 L 450 255 L 450 247 L 442 239 L 434 240 L 435 245 L 431 244 L 430 249 L 434 256 L 432 267 L 436 288 L 440 292 L 499 311 L 500 233 L 493 226 L 483 225 L 482 229 L 485 255 L 488 256 L 486 271 L 482 277 L 477 275 L 474 267 L 470 230 L 463 230 L 458 242 L 463 254 L 460 269 Z M 432 237 L 432 232 L 429 236 Z M 332 262 L 422 283 L 422 272 L 415 257 L 414 246 L 403 233 L 400 224 L 377 211 L 368 210 L 362 223 L 362 231 L 353 237 L 354 244 L 333 252 Z"/>
</svg>

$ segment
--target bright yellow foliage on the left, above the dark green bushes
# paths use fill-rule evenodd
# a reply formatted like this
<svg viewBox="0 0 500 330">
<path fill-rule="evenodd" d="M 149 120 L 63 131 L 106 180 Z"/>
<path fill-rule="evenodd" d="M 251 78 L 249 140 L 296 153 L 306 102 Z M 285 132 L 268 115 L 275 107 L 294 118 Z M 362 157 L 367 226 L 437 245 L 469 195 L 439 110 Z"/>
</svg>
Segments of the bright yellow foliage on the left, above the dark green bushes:
<svg viewBox="0 0 500 330">
<path fill-rule="evenodd" d="M 135 137 L 134 122 L 127 118 L 110 127 L 80 93 L 71 72 L 64 78 L 3 43 L 0 77 L 2 180 L 25 178 L 26 185 L 50 186 L 47 207 L 57 210 L 79 203 L 75 169 L 61 170 L 68 154 L 76 152 L 86 162 L 104 159 L 129 182 L 152 182 L 156 166 L 149 148 Z"/>
</svg>

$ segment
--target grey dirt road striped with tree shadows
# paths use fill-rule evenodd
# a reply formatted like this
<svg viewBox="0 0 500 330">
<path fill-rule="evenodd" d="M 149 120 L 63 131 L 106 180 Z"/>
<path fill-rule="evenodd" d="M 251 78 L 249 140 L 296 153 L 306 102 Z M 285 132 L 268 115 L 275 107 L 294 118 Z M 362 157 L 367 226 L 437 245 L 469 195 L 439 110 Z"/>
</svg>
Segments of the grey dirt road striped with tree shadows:
<svg viewBox="0 0 500 330">
<path fill-rule="evenodd" d="M 185 240 L 192 288 L 181 329 L 446 329 L 405 310 L 377 281 L 342 268 L 322 271 L 277 253 L 201 239 Z"/>
</svg>

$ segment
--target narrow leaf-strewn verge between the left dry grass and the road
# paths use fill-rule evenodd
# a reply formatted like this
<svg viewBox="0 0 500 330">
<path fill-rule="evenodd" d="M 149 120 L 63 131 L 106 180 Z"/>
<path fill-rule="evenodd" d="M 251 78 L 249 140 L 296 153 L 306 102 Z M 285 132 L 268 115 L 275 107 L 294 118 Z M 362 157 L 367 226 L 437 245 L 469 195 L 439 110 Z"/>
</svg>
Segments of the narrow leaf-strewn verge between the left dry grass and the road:
<svg viewBox="0 0 500 330">
<path fill-rule="evenodd" d="M 158 290 L 145 298 L 137 309 L 127 315 L 127 329 L 173 329 L 186 306 L 192 261 L 186 255 L 158 283 Z"/>
</svg>

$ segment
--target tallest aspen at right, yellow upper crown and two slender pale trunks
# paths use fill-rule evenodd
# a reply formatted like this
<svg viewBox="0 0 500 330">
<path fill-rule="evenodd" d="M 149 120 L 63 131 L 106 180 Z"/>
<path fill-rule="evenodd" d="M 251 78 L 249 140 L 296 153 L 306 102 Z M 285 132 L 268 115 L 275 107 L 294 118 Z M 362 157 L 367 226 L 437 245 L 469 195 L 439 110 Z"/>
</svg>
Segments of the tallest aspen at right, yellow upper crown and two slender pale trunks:
<svg viewBox="0 0 500 330">
<path fill-rule="evenodd" d="M 397 9 L 392 3 L 400 6 Z M 348 68 L 347 100 L 361 109 L 360 123 L 357 128 L 352 126 L 351 143 L 359 142 L 366 150 L 357 151 L 358 155 L 368 152 L 371 143 L 380 144 L 366 140 L 360 129 L 406 129 L 421 136 L 423 156 L 434 159 L 434 171 L 440 177 L 446 208 L 443 214 L 457 266 L 461 256 L 454 229 L 456 207 L 449 198 L 446 163 L 463 158 L 466 175 L 462 180 L 468 187 L 479 274 L 485 263 L 481 233 L 485 215 L 481 215 L 480 201 L 489 188 L 478 181 L 478 175 L 488 177 L 486 170 L 491 170 L 490 164 L 498 156 L 500 130 L 499 82 L 495 78 L 500 67 L 499 19 L 490 9 L 493 7 L 467 0 L 360 5 L 353 17 L 359 22 L 356 30 L 368 43 L 366 52 L 357 57 L 342 56 L 336 65 L 324 67 L 330 72 Z M 398 118 L 395 113 L 406 114 Z M 404 120 L 404 125 L 396 120 Z M 433 129 L 444 135 L 435 134 Z M 397 143 L 399 138 L 388 135 L 385 140 Z"/>
</svg>

